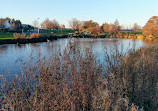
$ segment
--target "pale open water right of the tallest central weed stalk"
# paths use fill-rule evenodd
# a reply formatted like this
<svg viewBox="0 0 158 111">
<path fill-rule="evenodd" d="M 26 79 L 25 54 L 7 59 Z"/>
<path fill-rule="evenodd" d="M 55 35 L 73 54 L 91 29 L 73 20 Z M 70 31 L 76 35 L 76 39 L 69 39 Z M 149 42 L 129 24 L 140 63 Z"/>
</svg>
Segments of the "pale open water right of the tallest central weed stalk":
<svg viewBox="0 0 158 111">
<path fill-rule="evenodd" d="M 115 52 L 116 48 L 119 52 L 127 53 L 129 49 L 138 49 L 142 47 L 142 40 L 134 39 L 78 39 L 81 49 L 91 48 L 93 53 L 101 62 L 104 60 L 104 54 L 107 51 L 109 54 Z"/>
</svg>

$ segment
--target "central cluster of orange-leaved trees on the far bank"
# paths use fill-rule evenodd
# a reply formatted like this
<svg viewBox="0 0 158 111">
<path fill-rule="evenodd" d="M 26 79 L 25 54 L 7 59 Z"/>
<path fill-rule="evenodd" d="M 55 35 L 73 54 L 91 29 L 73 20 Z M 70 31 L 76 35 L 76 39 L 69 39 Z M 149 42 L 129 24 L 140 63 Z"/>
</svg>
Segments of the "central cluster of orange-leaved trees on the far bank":
<svg viewBox="0 0 158 111">
<path fill-rule="evenodd" d="M 104 23 L 102 26 L 100 26 L 97 22 L 94 22 L 92 20 L 79 21 L 77 19 L 72 19 L 70 21 L 70 27 L 73 30 L 83 32 L 83 33 L 90 33 L 94 36 L 96 36 L 102 32 L 118 33 L 121 28 L 118 20 L 116 20 L 113 24 Z"/>
</svg>

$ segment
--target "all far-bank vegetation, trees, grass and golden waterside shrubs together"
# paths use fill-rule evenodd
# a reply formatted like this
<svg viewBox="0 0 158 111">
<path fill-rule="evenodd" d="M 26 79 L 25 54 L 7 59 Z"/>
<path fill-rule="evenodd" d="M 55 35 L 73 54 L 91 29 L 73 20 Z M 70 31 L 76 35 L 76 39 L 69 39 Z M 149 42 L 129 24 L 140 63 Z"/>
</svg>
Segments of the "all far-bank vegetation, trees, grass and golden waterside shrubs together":
<svg viewBox="0 0 158 111">
<path fill-rule="evenodd" d="M 5 29 L 5 21 L 10 21 L 9 28 Z M 49 18 L 46 18 L 41 23 L 41 28 L 39 29 L 36 20 L 33 22 L 34 27 L 32 27 L 29 25 L 21 24 L 19 20 L 6 18 L 0 19 L 0 29 L 2 30 L 0 32 L 0 40 L 14 39 L 13 33 L 10 32 L 23 32 L 28 30 L 34 30 L 37 33 L 39 29 L 39 36 L 62 36 L 71 34 L 73 36 L 79 37 L 138 38 L 152 41 L 158 38 L 157 22 L 158 17 L 153 16 L 149 19 L 149 21 L 142 29 L 137 23 L 135 23 L 131 29 L 124 29 L 123 26 L 119 24 L 118 20 L 115 20 L 114 23 L 104 23 L 100 26 L 97 22 L 94 22 L 92 20 L 79 21 L 77 19 L 72 19 L 69 23 L 71 29 L 65 29 L 65 25 L 59 24 L 57 20 L 50 20 Z M 29 37 L 30 34 L 26 33 L 26 36 Z"/>
</svg>

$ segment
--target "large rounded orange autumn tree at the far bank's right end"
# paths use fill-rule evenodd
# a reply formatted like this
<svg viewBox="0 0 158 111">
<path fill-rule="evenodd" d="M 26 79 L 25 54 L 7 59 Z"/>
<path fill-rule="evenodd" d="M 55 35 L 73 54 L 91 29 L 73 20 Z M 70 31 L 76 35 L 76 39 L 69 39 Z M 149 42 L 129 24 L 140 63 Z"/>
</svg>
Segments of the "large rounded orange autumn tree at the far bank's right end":
<svg viewBox="0 0 158 111">
<path fill-rule="evenodd" d="M 151 17 L 142 29 L 145 36 L 152 35 L 158 37 L 158 16 Z"/>
</svg>

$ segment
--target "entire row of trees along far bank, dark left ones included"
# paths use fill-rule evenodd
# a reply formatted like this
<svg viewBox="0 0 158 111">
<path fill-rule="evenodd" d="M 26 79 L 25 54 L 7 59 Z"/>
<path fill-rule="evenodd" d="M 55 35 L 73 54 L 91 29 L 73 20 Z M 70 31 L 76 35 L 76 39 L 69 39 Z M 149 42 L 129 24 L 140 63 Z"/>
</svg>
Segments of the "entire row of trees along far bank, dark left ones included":
<svg viewBox="0 0 158 111">
<path fill-rule="evenodd" d="M 6 18 L 0 18 L 0 30 L 5 29 L 5 22 L 9 21 L 11 22 L 10 29 L 14 30 L 29 30 L 33 28 L 39 28 L 41 26 L 41 29 L 45 30 L 60 30 L 65 29 L 64 24 L 59 24 L 59 22 L 56 19 L 50 20 L 49 18 L 46 18 L 40 25 L 38 25 L 38 20 L 34 20 L 32 25 L 28 25 L 29 27 L 23 27 L 20 20 L 11 19 L 9 17 Z M 118 34 L 120 31 L 123 31 L 123 26 L 119 24 L 119 21 L 116 19 L 114 23 L 103 23 L 101 26 L 99 23 L 87 20 L 87 21 L 80 21 L 76 18 L 73 18 L 69 21 L 69 26 L 72 30 L 78 31 L 79 33 L 90 33 L 93 35 L 98 35 L 102 32 L 105 32 L 106 34 Z M 128 28 L 127 28 L 128 29 Z M 126 29 L 126 30 L 127 30 Z M 127 30 L 128 31 L 128 30 Z M 144 36 L 158 36 L 158 16 L 151 17 L 148 22 L 145 24 L 143 28 L 141 28 L 140 25 L 135 23 L 132 28 L 129 29 L 129 31 L 136 32 L 142 32 Z"/>
</svg>

